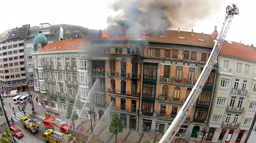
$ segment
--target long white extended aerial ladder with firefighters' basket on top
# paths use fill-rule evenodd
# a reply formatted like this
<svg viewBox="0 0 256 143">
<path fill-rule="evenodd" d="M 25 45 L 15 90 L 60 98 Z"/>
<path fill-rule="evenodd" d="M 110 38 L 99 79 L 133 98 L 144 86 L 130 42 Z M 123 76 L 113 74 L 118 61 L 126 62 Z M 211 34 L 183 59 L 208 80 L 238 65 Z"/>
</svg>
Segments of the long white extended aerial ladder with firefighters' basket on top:
<svg viewBox="0 0 256 143">
<path fill-rule="evenodd" d="M 199 97 L 207 78 L 209 77 L 212 67 L 215 64 L 215 59 L 217 58 L 220 52 L 221 45 L 228 33 L 228 29 L 230 27 L 232 19 L 235 14 L 239 14 L 239 11 L 238 11 L 238 8 L 236 8 L 236 6 L 233 6 L 233 7 L 228 6 L 226 8 L 226 13 L 227 15 L 225 16 L 225 21 L 223 23 L 222 29 L 215 40 L 215 44 L 211 51 L 211 55 L 209 56 L 209 59 L 207 60 L 207 63 L 204 66 L 204 69 L 202 70 L 195 86 L 191 90 L 191 93 L 188 95 L 186 102 L 184 103 L 182 108 L 179 110 L 177 116 L 174 118 L 172 124 L 167 129 L 167 131 L 165 132 L 164 136 L 161 138 L 159 143 L 170 143 L 172 141 L 173 137 L 178 132 L 184 120 L 187 118 L 193 105 L 196 103 L 196 100 Z"/>
</svg>

